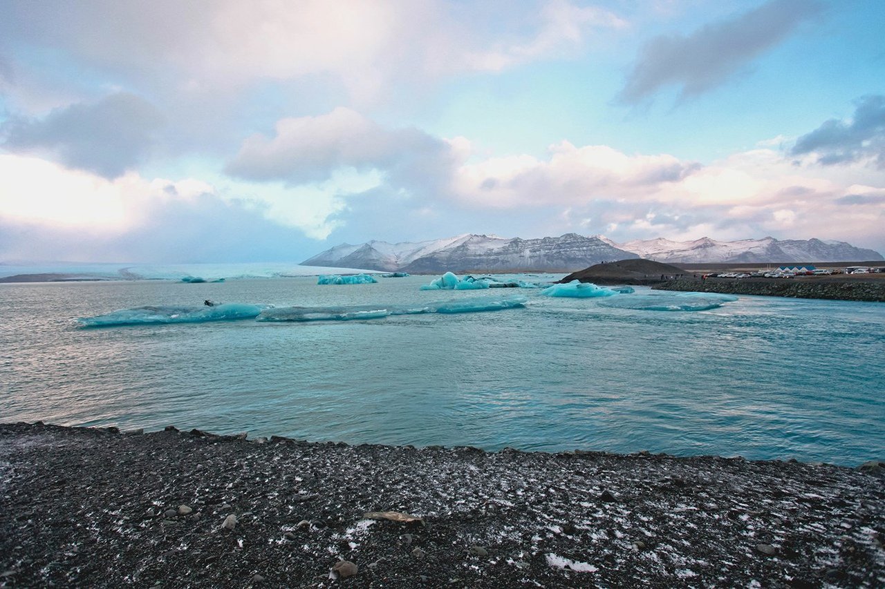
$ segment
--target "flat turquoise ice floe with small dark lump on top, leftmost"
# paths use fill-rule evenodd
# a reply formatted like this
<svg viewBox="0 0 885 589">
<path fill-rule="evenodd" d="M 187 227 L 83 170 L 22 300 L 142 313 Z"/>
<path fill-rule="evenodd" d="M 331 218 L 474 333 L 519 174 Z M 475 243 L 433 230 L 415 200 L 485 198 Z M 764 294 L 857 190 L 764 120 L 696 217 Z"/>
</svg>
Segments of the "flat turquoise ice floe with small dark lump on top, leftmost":
<svg viewBox="0 0 885 589">
<path fill-rule="evenodd" d="M 111 327 L 114 325 L 156 325 L 165 323 L 204 323 L 206 321 L 231 321 L 258 317 L 263 305 L 227 302 L 212 307 L 135 307 L 116 310 L 96 317 L 80 317 L 77 322 L 84 327 Z"/>
</svg>

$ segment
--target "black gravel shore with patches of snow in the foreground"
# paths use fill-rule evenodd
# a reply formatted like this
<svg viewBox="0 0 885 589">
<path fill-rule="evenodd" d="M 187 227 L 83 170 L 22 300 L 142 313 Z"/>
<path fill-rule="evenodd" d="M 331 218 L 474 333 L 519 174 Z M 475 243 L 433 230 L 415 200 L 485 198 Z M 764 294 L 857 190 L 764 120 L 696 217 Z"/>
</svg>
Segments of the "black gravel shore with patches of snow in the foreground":
<svg viewBox="0 0 885 589">
<path fill-rule="evenodd" d="M 883 466 L 0 425 L 0 585 L 881 587 Z"/>
</svg>

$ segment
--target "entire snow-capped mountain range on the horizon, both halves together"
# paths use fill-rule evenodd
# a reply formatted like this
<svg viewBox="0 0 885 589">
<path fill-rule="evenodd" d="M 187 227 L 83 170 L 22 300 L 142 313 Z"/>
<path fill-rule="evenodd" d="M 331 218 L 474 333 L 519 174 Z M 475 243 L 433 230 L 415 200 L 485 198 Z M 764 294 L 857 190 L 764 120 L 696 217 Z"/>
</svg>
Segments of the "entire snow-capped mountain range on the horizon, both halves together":
<svg viewBox="0 0 885 589">
<path fill-rule="evenodd" d="M 485 270 L 564 271 L 600 262 L 643 257 L 668 263 L 788 263 L 852 262 L 883 259 L 872 249 L 855 248 L 844 241 L 760 240 L 694 241 L 664 238 L 617 243 L 604 235 L 523 240 L 466 233 L 441 240 L 388 243 L 342 243 L 304 260 L 302 264 L 367 268 L 386 272 L 446 272 Z"/>
</svg>

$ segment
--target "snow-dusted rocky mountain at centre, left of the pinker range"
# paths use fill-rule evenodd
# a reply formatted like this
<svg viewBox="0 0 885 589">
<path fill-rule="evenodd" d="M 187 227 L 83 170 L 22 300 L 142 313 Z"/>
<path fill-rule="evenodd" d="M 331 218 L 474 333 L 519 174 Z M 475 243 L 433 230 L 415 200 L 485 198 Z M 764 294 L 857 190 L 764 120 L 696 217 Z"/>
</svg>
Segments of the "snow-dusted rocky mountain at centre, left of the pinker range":
<svg viewBox="0 0 885 589">
<path fill-rule="evenodd" d="M 373 268 L 388 272 L 565 271 L 632 257 L 637 256 L 614 248 L 597 237 L 577 233 L 534 240 L 465 234 L 418 243 L 367 241 L 358 246 L 342 244 L 304 260 L 302 264 Z"/>
</svg>

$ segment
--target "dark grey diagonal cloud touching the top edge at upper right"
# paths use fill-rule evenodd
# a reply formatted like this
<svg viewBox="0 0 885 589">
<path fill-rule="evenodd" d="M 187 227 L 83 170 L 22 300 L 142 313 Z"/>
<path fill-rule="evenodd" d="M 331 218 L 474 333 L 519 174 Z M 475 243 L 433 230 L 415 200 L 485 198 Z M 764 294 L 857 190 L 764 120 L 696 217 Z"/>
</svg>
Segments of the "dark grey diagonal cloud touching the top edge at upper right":
<svg viewBox="0 0 885 589">
<path fill-rule="evenodd" d="M 707 25 L 687 36 L 656 37 L 641 50 L 619 99 L 640 103 L 666 86 L 680 87 L 683 97 L 702 94 L 820 11 L 821 5 L 813 0 L 769 0 L 739 17 Z"/>
</svg>

